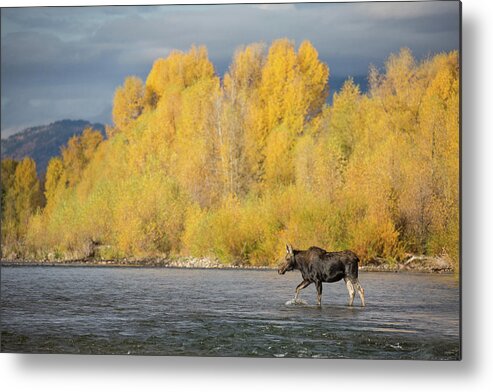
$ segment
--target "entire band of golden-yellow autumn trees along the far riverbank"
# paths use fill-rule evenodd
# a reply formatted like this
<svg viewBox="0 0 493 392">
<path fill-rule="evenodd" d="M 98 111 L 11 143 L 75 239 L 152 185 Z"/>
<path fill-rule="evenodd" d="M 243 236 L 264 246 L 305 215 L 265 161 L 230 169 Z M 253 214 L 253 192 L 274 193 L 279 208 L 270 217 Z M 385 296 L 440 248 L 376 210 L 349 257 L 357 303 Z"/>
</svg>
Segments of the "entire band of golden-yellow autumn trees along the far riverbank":
<svg viewBox="0 0 493 392">
<path fill-rule="evenodd" d="M 365 260 L 459 258 L 459 60 L 408 49 L 368 92 L 308 41 L 205 47 L 155 61 L 114 96 L 113 125 L 53 158 L 2 161 L 3 257 L 211 256 L 275 264 L 284 243 Z"/>
</svg>

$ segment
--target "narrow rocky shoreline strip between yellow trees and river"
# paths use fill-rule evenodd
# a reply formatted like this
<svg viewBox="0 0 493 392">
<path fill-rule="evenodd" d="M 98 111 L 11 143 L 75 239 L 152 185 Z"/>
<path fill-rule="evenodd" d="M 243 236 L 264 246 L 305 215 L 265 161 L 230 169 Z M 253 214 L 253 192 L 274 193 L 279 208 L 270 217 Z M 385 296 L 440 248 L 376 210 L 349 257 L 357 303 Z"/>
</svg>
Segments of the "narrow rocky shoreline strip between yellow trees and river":
<svg viewBox="0 0 493 392">
<path fill-rule="evenodd" d="M 248 264 L 224 264 L 213 258 L 142 258 L 99 260 L 94 258 L 70 260 L 25 260 L 2 259 L 1 266 L 71 266 L 71 267 L 147 267 L 147 268 L 196 268 L 196 269 L 258 269 L 275 270 L 275 266 L 252 266 Z M 360 266 L 365 272 L 426 272 L 453 273 L 450 262 L 441 257 L 409 256 L 401 262 L 389 262 L 375 258 Z"/>
</svg>

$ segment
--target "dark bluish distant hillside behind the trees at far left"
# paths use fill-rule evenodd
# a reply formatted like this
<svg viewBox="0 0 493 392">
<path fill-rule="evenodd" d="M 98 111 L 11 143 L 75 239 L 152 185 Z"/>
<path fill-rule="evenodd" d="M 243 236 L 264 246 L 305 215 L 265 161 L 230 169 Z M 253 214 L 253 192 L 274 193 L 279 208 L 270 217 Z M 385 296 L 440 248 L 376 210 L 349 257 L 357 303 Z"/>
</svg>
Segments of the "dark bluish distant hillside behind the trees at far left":
<svg viewBox="0 0 493 392">
<path fill-rule="evenodd" d="M 2 159 L 22 159 L 26 156 L 36 161 L 38 174 L 44 173 L 50 158 L 60 154 L 60 148 L 73 135 L 80 135 L 85 128 L 92 127 L 104 134 L 104 125 L 91 124 L 84 120 L 62 120 L 49 125 L 27 128 L 2 139 Z"/>
</svg>

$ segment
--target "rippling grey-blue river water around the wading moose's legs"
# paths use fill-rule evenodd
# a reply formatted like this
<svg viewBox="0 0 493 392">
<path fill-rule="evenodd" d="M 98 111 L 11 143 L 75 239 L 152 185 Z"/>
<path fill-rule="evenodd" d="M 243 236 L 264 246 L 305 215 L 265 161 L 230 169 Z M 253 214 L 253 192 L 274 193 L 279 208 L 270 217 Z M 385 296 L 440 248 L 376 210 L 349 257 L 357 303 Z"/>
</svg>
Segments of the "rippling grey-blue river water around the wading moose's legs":
<svg viewBox="0 0 493 392">
<path fill-rule="evenodd" d="M 287 305 L 298 272 L 171 268 L 2 267 L 1 351 L 191 356 L 456 360 L 457 280 L 360 273 L 313 285 Z"/>
</svg>

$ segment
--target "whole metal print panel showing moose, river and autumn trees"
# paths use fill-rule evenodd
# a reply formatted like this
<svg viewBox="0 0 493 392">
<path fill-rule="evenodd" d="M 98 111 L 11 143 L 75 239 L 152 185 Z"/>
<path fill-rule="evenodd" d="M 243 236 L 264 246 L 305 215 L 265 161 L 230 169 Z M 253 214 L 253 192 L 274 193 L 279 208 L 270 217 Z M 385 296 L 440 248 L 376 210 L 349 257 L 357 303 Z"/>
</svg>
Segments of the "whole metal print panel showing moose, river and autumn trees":
<svg viewBox="0 0 493 392">
<path fill-rule="evenodd" d="M 1 11 L 2 352 L 460 360 L 460 2 Z"/>
</svg>

